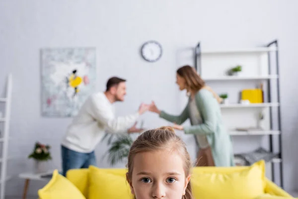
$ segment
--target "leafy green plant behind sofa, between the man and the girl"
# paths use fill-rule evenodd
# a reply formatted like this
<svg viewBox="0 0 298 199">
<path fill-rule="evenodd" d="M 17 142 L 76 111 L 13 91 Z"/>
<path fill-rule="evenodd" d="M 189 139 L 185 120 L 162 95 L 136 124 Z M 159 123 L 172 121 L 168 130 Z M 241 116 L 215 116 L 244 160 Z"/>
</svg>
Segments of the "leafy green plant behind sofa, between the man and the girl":
<svg viewBox="0 0 298 199">
<path fill-rule="evenodd" d="M 110 146 L 104 157 L 108 155 L 108 161 L 111 166 L 127 158 L 130 147 L 134 142 L 129 134 L 106 133 L 102 140 L 106 138 L 108 138 L 108 145 Z"/>
</svg>

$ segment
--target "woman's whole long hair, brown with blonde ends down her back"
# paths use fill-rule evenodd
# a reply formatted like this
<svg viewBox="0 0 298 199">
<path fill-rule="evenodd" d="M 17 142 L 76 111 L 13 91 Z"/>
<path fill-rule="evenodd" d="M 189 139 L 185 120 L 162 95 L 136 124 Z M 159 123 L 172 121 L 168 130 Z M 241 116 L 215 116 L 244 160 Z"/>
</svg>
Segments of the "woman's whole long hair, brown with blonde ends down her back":
<svg viewBox="0 0 298 199">
<path fill-rule="evenodd" d="M 200 91 L 201 89 L 206 89 L 209 92 L 212 93 L 213 97 L 221 103 L 223 101 L 222 98 L 220 98 L 209 86 L 206 85 L 204 80 L 201 78 L 201 76 L 197 73 L 197 71 L 189 66 L 182 66 L 177 71 L 177 74 L 182 77 L 185 80 L 186 88 L 189 92 L 189 90 L 192 91 Z"/>
</svg>

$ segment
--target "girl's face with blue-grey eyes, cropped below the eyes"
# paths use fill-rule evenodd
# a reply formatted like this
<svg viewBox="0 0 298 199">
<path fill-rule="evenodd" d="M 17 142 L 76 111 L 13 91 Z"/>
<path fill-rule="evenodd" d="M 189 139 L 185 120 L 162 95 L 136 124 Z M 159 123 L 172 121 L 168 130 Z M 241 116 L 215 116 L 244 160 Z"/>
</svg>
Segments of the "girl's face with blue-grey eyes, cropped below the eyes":
<svg viewBox="0 0 298 199">
<path fill-rule="evenodd" d="M 190 175 L 185 176 L 183 159 L 168 150 L 138 153 L 134 157 L 132 194 L 137 199 L 181 199 Z"/>
</svg>

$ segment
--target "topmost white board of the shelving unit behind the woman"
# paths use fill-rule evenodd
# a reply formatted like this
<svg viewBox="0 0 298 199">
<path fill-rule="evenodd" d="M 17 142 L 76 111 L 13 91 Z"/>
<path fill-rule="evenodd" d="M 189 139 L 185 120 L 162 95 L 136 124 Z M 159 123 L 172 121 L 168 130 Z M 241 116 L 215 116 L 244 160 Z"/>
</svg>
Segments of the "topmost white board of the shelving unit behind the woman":
<svg viewBox="0 0 298 199">
<path fill-rule="evenodd" d="M 219 53 L 263 53 L 276 51 L 276 47 L 257 47 L 257 48 L 235 48 L 235 49 L 211 49 L 211 50 L 202 50 L 202 54 L 219 54 Z"/>
</svg>

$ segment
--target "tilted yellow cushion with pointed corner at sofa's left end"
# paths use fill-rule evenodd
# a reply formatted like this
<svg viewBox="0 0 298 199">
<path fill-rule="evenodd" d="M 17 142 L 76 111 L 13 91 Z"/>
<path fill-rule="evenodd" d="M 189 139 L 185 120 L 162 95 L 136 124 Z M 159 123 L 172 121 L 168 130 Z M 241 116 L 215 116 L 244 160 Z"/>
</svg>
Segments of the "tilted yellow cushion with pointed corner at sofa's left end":
<svg viewBox="0 0 298 199">
<path fill-rule="evenodd" d="M 40 199 L 86 199 L 58 170 L 53 172 L 50 182 L 38 190 L 38 196 Z"/>
</svg>

